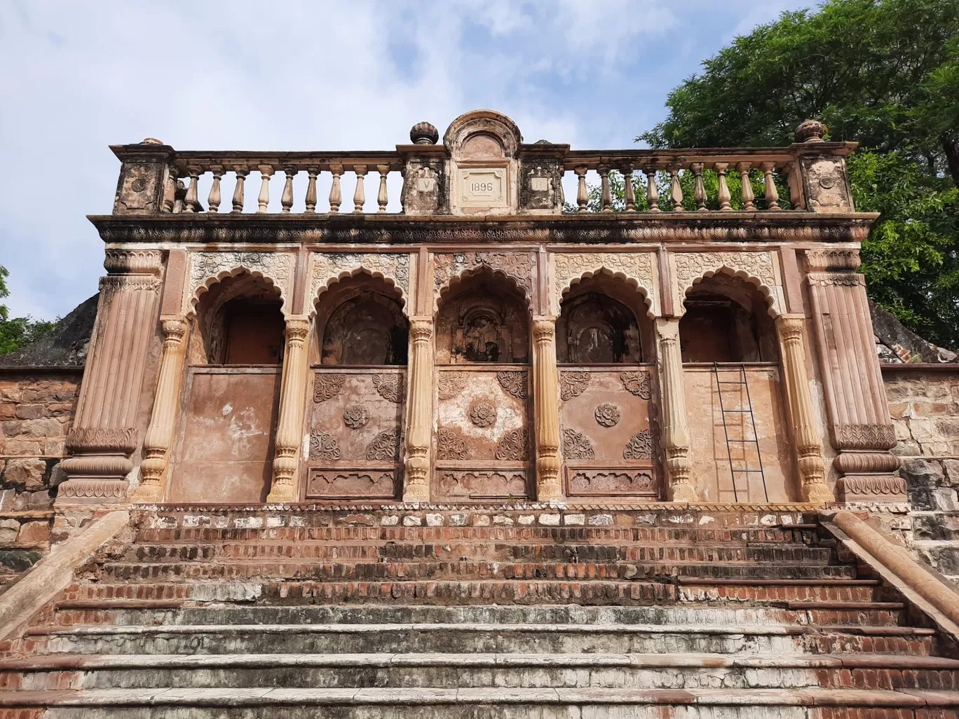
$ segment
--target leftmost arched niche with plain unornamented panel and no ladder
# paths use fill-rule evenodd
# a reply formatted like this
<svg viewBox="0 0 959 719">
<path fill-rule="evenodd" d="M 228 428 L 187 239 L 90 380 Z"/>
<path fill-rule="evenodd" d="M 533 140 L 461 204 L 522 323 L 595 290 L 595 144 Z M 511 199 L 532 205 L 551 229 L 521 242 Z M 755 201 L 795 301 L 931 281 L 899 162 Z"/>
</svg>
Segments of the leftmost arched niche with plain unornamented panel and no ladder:
<svg viewBox="0 0 959 719">
<path fill-rule="evenodd" d="M 190 302 L 170 500 L 266 501 L 285 321 L 272 282 L 237 269 Z"/>
</svg>

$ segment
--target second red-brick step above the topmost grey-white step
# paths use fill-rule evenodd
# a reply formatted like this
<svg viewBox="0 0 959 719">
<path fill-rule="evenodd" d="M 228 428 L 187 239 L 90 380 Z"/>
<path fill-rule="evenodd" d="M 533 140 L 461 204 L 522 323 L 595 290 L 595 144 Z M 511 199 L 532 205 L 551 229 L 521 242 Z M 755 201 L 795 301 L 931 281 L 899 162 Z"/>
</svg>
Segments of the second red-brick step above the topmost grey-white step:
<svg viewBox="0 0 959 719">
<path fill-rule="evenodd" d="M 229 563 L 108 562 L 96 569 L 98 578 L 136 582 L 191 579 L 302 579 L 324 581 L 410 581 L 475 579 L 642 579 L 672 576 L 710 578 L 851 578 L 854 568 L 820 564 L 693 564 L 693 563 L 541 563 L 541 562 L 277 562 Z"/>
</svg>

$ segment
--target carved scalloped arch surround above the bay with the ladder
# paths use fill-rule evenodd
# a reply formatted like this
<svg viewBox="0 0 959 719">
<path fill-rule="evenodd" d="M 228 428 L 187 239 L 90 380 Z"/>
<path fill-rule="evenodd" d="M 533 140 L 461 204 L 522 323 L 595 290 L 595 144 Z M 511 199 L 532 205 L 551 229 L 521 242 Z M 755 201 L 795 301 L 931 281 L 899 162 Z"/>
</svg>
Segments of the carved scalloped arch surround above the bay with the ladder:
<svg viewBox="0 0 959 719">
<path fill-rule="evenodd" d="M 778 317 L 785 312 L 783 281 L 772 252 L 682 252 L 672 256 L 673 313 L 686 313 L 686 293 L 715 274 L 738 277 L 760 290 L 768 313 Z"/>
</svg>

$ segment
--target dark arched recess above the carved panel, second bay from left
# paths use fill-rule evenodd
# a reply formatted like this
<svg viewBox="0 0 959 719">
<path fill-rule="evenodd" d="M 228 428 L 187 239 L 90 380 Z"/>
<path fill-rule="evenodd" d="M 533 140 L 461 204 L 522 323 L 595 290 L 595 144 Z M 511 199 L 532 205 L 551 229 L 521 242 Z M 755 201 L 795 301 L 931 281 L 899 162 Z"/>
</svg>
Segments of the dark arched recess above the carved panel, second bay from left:
<svg viewBox="0 0 959 719">
<path fill-rule="evenodd" d="M 408 334 L 399 304 L 378 292 L 342 302 L 323 329 L 323 364 L 406 364 Z"/>
</svg>

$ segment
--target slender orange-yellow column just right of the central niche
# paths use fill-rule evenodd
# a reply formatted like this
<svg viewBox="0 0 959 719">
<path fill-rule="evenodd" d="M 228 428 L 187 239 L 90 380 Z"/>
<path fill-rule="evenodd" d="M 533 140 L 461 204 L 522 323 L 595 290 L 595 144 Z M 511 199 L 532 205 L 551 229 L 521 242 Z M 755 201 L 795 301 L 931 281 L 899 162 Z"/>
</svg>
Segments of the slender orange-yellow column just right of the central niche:
<svg viewBox="0 0 959 719">
<path fill-rule="evenodd" d="M 559 373 L 556 318 L 533 317 L 533 415 L 536 423 L 536 499 L 560 501 Z"/>
</svg>

